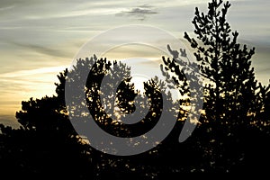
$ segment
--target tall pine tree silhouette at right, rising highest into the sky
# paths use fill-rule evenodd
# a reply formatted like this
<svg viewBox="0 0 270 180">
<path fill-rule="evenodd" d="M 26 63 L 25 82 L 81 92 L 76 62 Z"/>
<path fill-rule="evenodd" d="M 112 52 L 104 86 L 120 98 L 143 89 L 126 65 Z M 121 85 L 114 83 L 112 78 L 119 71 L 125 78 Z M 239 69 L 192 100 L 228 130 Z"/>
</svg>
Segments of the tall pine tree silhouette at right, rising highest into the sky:
<svg viewBox="0 0 270 180">
<path fill-rule="evenodd" d="M 232 32 L 227 22 L 229 6 L 229 2 L 213 0 L 208 14 L 196 8 L 192 23 L 197 40 L 186 32 L 184 38 L 195 50 L 202 75 L 211 82 L 205 86 L 207 119 L 241 123 L 253 121 L 251 116 L 257 112 L 258 84 L 251 67 L 255 48 L 238 43 L 238 31 Z"/>
</svg>

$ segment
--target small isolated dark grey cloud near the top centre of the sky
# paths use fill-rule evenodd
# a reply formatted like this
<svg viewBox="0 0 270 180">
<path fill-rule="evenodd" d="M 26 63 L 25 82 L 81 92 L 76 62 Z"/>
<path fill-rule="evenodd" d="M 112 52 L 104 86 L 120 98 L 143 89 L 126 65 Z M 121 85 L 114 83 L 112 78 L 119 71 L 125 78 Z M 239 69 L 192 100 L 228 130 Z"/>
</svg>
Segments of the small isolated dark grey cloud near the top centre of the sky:
<svg viewBox="0 0 270 180">
<path fill-rule="evenodd" d="M 139 5 L 133 7 L 130 10 L 121 11 L 121 13 L 115 14 L 116 16 L 134 17 L 139 21 L 144 21 L 148 15 L 158 14 L 154 10 L 154 7 L 148 4 Z"/>
</svg>

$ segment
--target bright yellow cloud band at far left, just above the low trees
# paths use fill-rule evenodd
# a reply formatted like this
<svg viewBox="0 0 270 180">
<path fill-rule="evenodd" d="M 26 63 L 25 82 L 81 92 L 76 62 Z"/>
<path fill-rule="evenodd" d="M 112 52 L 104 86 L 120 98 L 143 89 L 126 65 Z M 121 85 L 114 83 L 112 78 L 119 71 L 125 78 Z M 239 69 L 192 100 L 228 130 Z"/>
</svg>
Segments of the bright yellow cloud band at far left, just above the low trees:
<svg viewBox="0 0 270 180">
<path fill-rule="evenodd" d="M 18 70 L 0 74 L 1 102 L 21 101 L 46 94 L 54 94 L 57 75 L 66 67 L 41 67 L 31 70 Z M 4 105 L 1 106 L 4 108 Z"/>
</svg>

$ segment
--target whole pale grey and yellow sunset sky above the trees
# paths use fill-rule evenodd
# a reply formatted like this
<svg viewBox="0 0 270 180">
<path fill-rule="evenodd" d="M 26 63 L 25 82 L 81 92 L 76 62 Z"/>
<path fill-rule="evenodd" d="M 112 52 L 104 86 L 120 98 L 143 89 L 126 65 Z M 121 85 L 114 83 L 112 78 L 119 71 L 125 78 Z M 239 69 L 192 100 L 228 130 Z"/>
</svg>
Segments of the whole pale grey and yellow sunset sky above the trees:
<svg viewBox="0 0 270 180">
<path fill-rule="evenodd" d="M 55 94 L 54 83 L 58 82 L 58 73 L 70 66 L 87 41 L 104 31 L 123 25 L 143 24 L 183 39 L 184 31 L 192 34 L 194 8 L 197 6 L 205 12 L 208 2 L 1 0 L 0 123 L 18 127 L 15 112 L 20 111 L 21 102 L 30 97 Z M 270 79 L 270 1 L 229 2 L 231 29 L 239 32 L 240 42 L 256 47 L 252 66 L 257 79 L 267 85 Z M 131 49 L 129 52 L 135 53 L 139 48 L 133 46 Z M 160 55 L 157 50 L 152 50 L 151 54 L 154 52 Z M 112 50 L 107 55 L 110 53 L 113 54 Z M 139 53 L 144 58 L 151 58 L 147 51 Z M 145 71 L 150 69 L 144 68 Z"/>
</svg>

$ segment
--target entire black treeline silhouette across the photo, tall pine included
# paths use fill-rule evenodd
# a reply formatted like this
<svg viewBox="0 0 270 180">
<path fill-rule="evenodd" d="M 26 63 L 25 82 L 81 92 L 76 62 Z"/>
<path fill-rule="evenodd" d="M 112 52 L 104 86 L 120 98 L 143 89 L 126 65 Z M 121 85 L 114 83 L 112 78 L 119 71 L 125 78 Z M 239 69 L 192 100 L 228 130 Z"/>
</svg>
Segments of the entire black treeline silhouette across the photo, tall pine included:
<svg viewBox="0 0 270 180">
<path fill-rule="evenodd" d="M 157 147 L 134 156 L 112 156 L 98 151 L 78 136 L 65 103 L 66 81 L 76 83 L 82 69 L 90 72 L 85 85 L 85 103 L 74 104 L 77 111 L 85 105 L 99 127 L 114 136 L 134 137 L 151 130 L 163 112 L 162 93 L 165 84 L 153 78 L 145 82 L 145 93 L 139 94 L 130 83 L 130 67 L 105 58 L 78 59 L 71 72 L 58 75 L 56 95 L 22 102 L 16 112 L 19 129 L 0 126 L 0 175 L 20 177 L 59 177 L 74 179 L 164 179 L 183 173 L 266 173 L 270 161 L 270 85 L 261 85 L 251 66 L 255 49 L 238 43 L 238 32 L 231 31 L 226 20 L 230 4 L 212 0 L 207 14 L 197 8 L 193 18 L 195 38 L 184 33 L 194 49 L 196 63 L 184 62 L 184 49 L 168 50 L 172 58 L 163 57 L 161 70 L 167 82 L 173 82 L 185 97 L 191 97 L 189 85 L 198 79 L 184 76 L 184 63 L 199 66 L 203 84 L 203 112 L 192 136 L 179 143 L 178 138 L 189 112 L 188 98 L 173 103 L 179 112 L 174 129 Z M 120 73 L 121 72 L 121 73 Z M 193 73 L 193 72 L 190 72 Z M 100 85 L 104 76 L 125 76 L 116 94 L 116 104 L 101 99 Z M 68 75 L 76 79 L 67 78 Z M 193 76 L 195 77 L 195 76 Z M 113 81 L 111 81 L 112 83 Z M 70 82 L 69 82 L 70 83 Z M 71 82 L 72 83 L 72 82 Z M 112 92 L 113 85 L 106 85 Z M 78 88 L 82 88 L 79 87 Z M 196 95 L 196 92 L 193 92 Z M 146 116 L 137 123 L 115 121 L 105 112 L 103 103 L 125 113 L 143 111 Z M 171 96 L 168 94 L 168 96 Z M 199 96 L 198 96 L 199 97 Z M 79 97 L 73 97 L 79 98 Z M 148 99 L 148 101 L 146 101 Z M 172 99 L 169 99 L 172 100 Z M 137 102 L 137 103 L 138 103 Z M 112 112 L 113 113 L 113 112 Z M 179 176 L 178 176 L 179 178 Z"/>
</svg>

